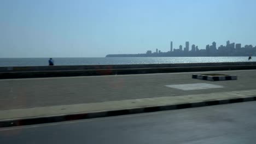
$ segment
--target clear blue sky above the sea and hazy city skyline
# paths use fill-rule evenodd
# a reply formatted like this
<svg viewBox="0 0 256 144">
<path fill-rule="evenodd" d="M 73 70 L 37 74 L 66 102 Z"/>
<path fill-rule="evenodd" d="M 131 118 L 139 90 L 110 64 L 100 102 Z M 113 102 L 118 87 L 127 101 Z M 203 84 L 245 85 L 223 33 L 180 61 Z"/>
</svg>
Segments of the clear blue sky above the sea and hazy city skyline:
<svg viewBox="0 0 256 144">
<path fill-rule="evenodd" d="M 104 57 L 256 45 L 254 0 L 0 0 L 0 57 Z M 191 47 L 190 47 L 191 49 Z"/>
</svg>

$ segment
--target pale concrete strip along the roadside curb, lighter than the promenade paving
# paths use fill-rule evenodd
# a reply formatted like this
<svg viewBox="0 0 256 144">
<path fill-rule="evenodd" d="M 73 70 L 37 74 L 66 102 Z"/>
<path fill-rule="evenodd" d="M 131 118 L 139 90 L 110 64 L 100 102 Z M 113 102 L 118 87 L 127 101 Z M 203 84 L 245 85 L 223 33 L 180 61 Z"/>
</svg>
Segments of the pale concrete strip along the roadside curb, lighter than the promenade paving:
<svg viewBox="0 0 256 144">
<path fill-rule="evenodd" d="M 23 119 L 23 118 L 37 118 L 49 116 L 72 115 L 75 113 L 96 113 L 108 112 L 113 110 L 132 110 L 143 107 L 154 107 L 163 105 L 179 105 L 179 104 L 194 104 L 203 101 L 218 100 L 221 103 L 228 104 L 226 100 L 230 99 L 248 99 L 251 101 L 255 99 L 256 89 L 247 91 L 232 91 L 219 92 L 208 94 L 194 94 L 182 95 L 179 97 L 158 97 L 158 98 L 144 98 L 120 101 L 105 101 L 101 103 L 89 104 L 75 104 L 75 105 L 59 105 L 59 106 L 45 106 L 34 107 L 28 109 L 14 109 L 14 110 L 0 110 L 0 122 L 8 119 Z M 143 109 L 142 109 L 143 110 Z M 108 116 L 108 114 L 104 114 Z"/>
</svg>

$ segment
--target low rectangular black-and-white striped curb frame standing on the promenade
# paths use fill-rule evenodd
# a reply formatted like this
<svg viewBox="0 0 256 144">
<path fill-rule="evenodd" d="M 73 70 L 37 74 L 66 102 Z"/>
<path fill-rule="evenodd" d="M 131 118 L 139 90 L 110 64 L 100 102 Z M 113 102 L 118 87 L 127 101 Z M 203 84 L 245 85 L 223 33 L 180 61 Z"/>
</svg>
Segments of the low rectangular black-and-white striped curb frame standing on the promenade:
<svg viewBox="0 0 256 144">
<path fill-rule="evenodd" d="M 193 79 L 207 80 L 207 81 L 227 81 L 237 80 L 236 75 L 210 76 L 210 75 L 192 75 Z"/>
</svg>

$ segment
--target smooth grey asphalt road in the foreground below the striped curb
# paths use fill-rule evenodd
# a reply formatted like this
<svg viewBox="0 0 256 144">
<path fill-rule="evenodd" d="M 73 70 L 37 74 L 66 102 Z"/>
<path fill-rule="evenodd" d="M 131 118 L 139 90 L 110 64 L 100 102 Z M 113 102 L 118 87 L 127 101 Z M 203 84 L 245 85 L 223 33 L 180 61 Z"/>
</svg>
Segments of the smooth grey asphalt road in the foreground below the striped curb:
<svg viewBox="0 0 256 144">
<path fill-rule="evenodd" d="M 256 101 L 0 129 L 0 143 L 255 143 Z"/>
</svg>

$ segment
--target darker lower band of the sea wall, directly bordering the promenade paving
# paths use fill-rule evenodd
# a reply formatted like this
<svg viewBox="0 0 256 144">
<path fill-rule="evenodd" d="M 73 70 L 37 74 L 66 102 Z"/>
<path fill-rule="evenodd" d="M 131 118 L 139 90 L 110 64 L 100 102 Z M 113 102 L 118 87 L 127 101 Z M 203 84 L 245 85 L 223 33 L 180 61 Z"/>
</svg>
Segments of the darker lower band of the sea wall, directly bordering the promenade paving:
<svg viewBox="0 0 256 144">
<path fill-rule="evenodd" d="M 171 67 L 171 68 L 139 68 L 139 69 L 97 69 L 97 70 L 94 69 L 94 70 L 0 72 L 0 79 L 154 74 L 154 73 L 182 73 L 182 72 L 197 72 L 197 71 L 248 70 L 248 69 L 256 69 L 256 65 L 223 65 L 223 66 L 210 66 L 210 67 Z"/>
</svg>

